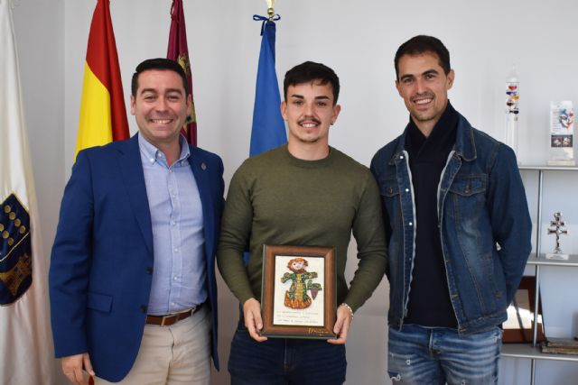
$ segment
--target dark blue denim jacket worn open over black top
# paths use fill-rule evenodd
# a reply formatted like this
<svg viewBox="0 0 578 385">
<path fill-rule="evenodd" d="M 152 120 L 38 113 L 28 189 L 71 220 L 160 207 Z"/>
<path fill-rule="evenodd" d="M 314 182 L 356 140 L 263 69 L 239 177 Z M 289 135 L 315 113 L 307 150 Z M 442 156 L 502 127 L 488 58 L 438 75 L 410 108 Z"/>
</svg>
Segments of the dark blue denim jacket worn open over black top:
<svg viewBox="0 0 578 385">
<path fill-rule="evenodd" d="M 371 160 L 389 248 L 389 325 L 407 315 L 415 258 L 415 201 L 406 131 Z M 460 115 L 437 190 L 438 229 L 452 307 L 463 334 L 501 324 L 531 252 L 532 222 L 514 151 Z"/>
</svg>

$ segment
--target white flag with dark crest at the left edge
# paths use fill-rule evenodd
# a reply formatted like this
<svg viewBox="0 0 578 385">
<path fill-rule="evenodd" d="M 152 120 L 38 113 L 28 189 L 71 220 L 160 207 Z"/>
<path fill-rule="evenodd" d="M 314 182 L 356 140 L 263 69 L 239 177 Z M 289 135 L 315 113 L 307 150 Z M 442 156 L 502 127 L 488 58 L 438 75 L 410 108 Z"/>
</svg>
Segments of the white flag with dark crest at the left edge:
<svg viewBox="0 0 578 385">
<path fill-rule="evenodd" d="M 0 384 L 56 384 L 12 0 L 0 0 Z"/>
</svg>

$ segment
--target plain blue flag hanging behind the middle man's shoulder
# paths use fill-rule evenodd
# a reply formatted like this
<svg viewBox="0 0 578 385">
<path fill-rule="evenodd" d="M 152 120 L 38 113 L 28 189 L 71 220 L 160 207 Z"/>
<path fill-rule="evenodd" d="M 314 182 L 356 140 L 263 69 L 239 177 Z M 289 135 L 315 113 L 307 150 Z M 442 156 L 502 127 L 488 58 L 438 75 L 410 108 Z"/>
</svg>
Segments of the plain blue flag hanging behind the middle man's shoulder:
<svg viewBox="0 0 578 385">
<path fill-rule="evenodd" d="M 263 19 L 266 18 L 254 16 L 254 20 Z M 273 21 L 268 19 L 264 21 L 261 36 L 249 156 L 269 151 L 287 142 L 285 124 L 280 110 L 279 84 L 275 73 L 275 23 Z"/>
</svg>

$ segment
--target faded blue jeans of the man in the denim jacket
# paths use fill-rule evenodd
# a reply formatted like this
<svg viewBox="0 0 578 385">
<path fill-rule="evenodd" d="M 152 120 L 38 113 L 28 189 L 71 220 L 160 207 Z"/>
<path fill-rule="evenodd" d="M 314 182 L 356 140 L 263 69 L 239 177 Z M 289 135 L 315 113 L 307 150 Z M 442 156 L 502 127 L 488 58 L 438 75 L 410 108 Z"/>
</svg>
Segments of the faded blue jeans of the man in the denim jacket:
<svg viewBox="0 0 578 385">
<path fill-rule="evenodd" d="M 499 327 L 474 335 L 445 327 L 389 327 L 389 377 L 394 384 L 496 384 L 501 335 Z"/>
</svg>

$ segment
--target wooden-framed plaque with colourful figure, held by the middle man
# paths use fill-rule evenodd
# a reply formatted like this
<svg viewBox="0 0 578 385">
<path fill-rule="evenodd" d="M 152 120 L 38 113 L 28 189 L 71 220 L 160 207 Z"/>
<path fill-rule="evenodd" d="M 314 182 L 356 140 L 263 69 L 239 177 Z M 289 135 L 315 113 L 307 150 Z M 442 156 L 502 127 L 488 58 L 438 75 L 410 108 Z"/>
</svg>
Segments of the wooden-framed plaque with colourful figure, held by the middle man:
<svg viewBox="0 0 578 385">
<path fill-rule="evenodd" d="M 335 325 L 335 249 L 263 248 L 261 335 L 329 339 Z"/>
</svg>

